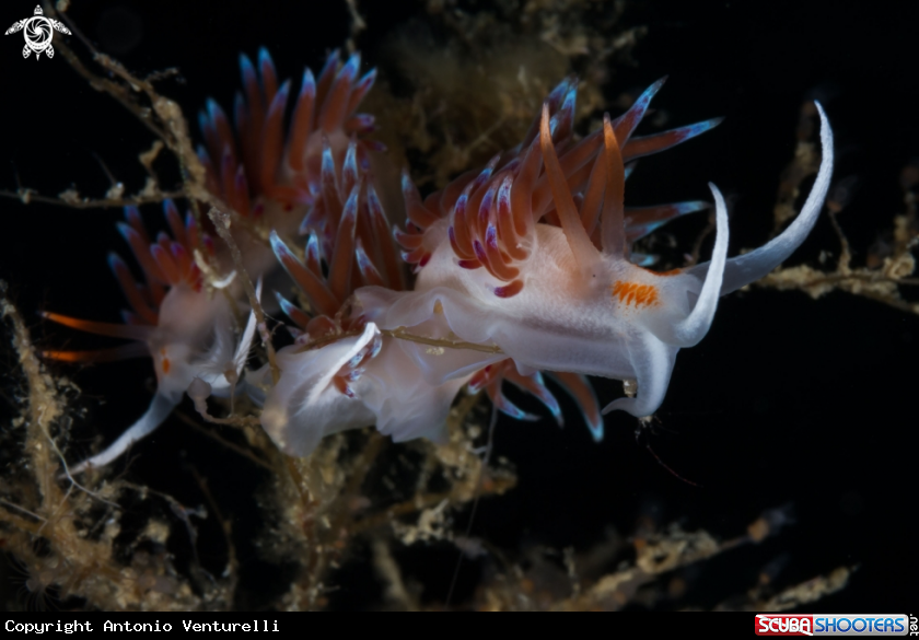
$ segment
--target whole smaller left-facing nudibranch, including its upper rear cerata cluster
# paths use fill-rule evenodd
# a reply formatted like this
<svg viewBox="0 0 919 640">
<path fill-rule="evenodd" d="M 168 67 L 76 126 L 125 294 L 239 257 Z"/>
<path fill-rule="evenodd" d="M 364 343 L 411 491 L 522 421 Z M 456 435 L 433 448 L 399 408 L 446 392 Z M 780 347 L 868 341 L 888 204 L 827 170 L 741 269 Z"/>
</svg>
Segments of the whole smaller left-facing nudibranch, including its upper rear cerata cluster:
<svg viewBox="0 0 919 640">
<path fill-rule="evenodd" d="M 319 222 L 314 224 L 315 232 L 326 255 L 331 255 L 337 218 L 325 211 L 338 206 L 336 172 L 342 173 L 345 187 L 350 188 L 349 181 L 356 181 L 369 166 L 369 151 L 380 148 L 363 139 L 373 130 L 373 117 L 357 113 L 376 73 L 371 70 L 359 78 L 360 56 L 356 54 L 341 63 L 338 51 L 328 56 L 317 79 L 306 69 L 284 137 L 290 82 L 279 86 L 275 66 L 264 48 L 258 55 L 258 72 L 245 55 L 240 57 L 240 65 L 245 97 L 236 95 L 235 135 L 220 106 L 208 101 L 199 116 L 206 144 L 199 148 L 198 156 L 210 193 L 245 222 L 234 225 L 234 240 L 247 274 L 261 280 L 279 269 L 260 236 L 269 231 L 295 232 L 307 211 L 306 220 Z M 156 393 L 147 412 L 102 453 L 72 467 L 71 473 L 105 465 L 151 433 L 193 382 L 200 381 L 196 396 L 202 388 L 205 395 L 226 396 L 235 391 L 243 374 L 255 323 L 249 314 L 242 327 L 242 318 L 234 315 L 234 310 L 245 311 L 247 304 L 242 287 L 233 281 L 229 253 L 207 236 L 208 220 L 201 221 L 201 233 L 190 214 L 182 221 L 172 202 L 166 202 L 164 210 L 172 237 L 161 233 L 151 242 L 139 211 L 131 207 L 126 209 L 127 223 L 119 225 L 146 280 L 135 282 L 120 258 L 109 258 L 131 305 L 124 325 L 44 314 L 75 329 L 135 340 L 102 351 L 50 350 L 45 352 L 47 358 L 100 362 L 151 356 L 156 373 Z M 209 282 L 210 289 L 219 291 L 205 286 L 194 259 L 196 251 L 219 274 L 229 274 L 222 281 Z M 391 263 L 395 264 L 395 256 Z M 392 276 L 393 266 L 387 263 L 386 267 Z"/>
</svg>

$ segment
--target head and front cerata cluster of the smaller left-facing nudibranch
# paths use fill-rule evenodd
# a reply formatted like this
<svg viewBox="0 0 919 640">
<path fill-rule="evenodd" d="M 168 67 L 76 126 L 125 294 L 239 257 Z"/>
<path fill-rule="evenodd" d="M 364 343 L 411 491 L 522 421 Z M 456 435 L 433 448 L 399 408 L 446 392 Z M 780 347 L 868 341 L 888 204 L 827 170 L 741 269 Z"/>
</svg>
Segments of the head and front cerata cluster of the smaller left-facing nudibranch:
<svg viewBox="0 0 919 640">
<path fill-rule="evenodd" d="M 183 222 L 172 201 L 166 201 L 163 210 L 172 237 L 162 232 L 151 242 L 135 207 L 125 208 L 126 222 L 118 225 L 144 278 L 142 283 L 135 281 L 124 260 L 114 253 L 109 255 L 108 264 L 131 307 L 123 313 L 124 324 L 43 314 L 74 329 L 133 340 L 97 351 L 45 351 L 46 358 L 104 362 L 150 356 L 156 372 L 156 393 L 143 416 L 102 453 L 72 467 L 71 473 L 108 464 L 151 433 L 196 377 L 207 382 L 216 395 L 228 395 L 243 372 L 255 331 L 254 318 L 249 317 L 244 330 L 236 330 L 230 299 L 220 291 L 209 294 L 203 290 L 203 275 L 191 257 L 199 247 L 212 256 L 213 243 L 208 236 L 199 236 L 190 212 Z"/>
</svg>

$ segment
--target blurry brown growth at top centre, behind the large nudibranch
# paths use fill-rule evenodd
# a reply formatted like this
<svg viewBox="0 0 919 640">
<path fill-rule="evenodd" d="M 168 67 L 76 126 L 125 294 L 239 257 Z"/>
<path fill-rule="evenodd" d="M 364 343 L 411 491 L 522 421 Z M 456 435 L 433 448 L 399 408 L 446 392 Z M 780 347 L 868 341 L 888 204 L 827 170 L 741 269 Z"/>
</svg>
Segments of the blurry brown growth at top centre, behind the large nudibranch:
<svg viewBox="0 0 919 640">
<path fill-rule="evenodd" d="M 517 144 L 545 96 L 572 72 L 581 81 L 575 120 L 603 108 L 612 62 L 628 62 L 644 33 L 618 24 L 625 4 L 498 0 L 473 11 L 428 0 L 427 16 L 384 46 L 386 73 L 367 103 L 380 114 L 395 164 L 410 158 L 416 184 L 443 187 Z M 395 93 L 394 84 L 407 89 Z"/>
</svg>

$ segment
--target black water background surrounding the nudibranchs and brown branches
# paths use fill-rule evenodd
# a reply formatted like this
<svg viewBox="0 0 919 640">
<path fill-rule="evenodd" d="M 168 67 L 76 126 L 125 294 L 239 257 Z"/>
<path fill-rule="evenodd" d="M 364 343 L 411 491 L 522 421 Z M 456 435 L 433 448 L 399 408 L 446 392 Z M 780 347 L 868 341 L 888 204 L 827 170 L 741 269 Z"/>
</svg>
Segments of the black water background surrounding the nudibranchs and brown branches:
<svg viewBox="0 0 919 640">
<path fill-rule="evenodd" d="M 362 4 L 369 67 L 385 34 L 419 9 L 415 2 Z M 33 8 L 4 2 L 0 26 Z M 836 176 L 859 178 L 840 223 L 856 261 L 862 260 L 901 211 L 899 172 L 919 155 L 917 12 L 916 3 L 633 2 L 625 23 L 644 24 L 649 33 L 635 50 L 637 65 L 610 74 L 610 98 L 670 74 L 655 106 L 666 109 L 671 124 L 726 119 L 644 162 L 627 201 L 706 198 L 712 181 L 736 197 L 732 252 L 760 244 L 771 229 L 779 172 L 794 150 L 800 105 L 819 95 L 836 132 Z M 280 75 L 299 77 L 344 43 L 349 25 L 345 3 L 330 1 L 77 0 L 69 15 L 141 74 L 178 67 L 186 82 L 161 90 L 186 114 L 208 96 L 231 104 L 240 51 L 254 56 L 267 45 Z M 0 188 L 15 188 L 18 174 L 47 195 L 72 183 L 85 195 L 101 195 L 108 181 L 97 154 L 137 190 L 143 176 L 136 156 L 149 147 L 148 132 L 59 56 L 23 60 L 21 48 L 20 35 L 0 38 Z M 0 200 L 0 278 L 13 286 L 39 340 L 59 345 L 72 336 L 43 326 L 39 309 L 118 317 L 123 301 L 105 255 L 124 252 L 114 225 L 120 216 Z M 148 220 L 159 220 L 155 208 Z M 673 225 L 675 234 L 697 229 Z M 813 264 L 821 249 L 837 252 L 826 219 L 795 259 Z M 721 302 L 708 337 L 680 352 L 658 414 L 666 431 L 652 439 L 670 466 L 701 487 L 680 482 L 637 446 L 635 421 L 625 415 L 607 418 L 601 444 L 574 418 L 562 431 L 548 420 L 501 421 L 497 453 L 516 464 L 520 486 L 482 502 L 475 532 L 511 555 L 531 543 L 585 549 L 605 527 L 628 533 L 641 516 L 733 537 L 764 509 L 791 503 L 793 527 L 710 562 L 687 604 L 713 606 L 741 593 L 779 558 L 784 568 L 777 580 L 788 585 L 860 566 L 851 584 L 815 610 L 915 608 L 917 357 L 919 318 L 876 302 L 842 293 L 818 301 L 798 292 L 733 294 Z M 3 366 L 12 366 L 12 356 L 3 358 Z M 132 361 L 75 374 L 108 438 L 146 406 L 150 373 L 149 361 Z M 613 393 L 608 383 L 597 388 L 602 399 Z M 105 403 L 95 402 L 103 397 Z M 257 512 L 247 496 L 257 475 L 235 473 L 245 463 L 213 447 L 171 420 L 137 452 L 131 474 L 191 504 L 202 500 L 188 468 L 194 464 L 236 519 L 237 532 L 254 533 Z M 252 549 L 241 554 L 244 572 L 268 571 Z M 431 598 L 442 600 L 454 555 L 423 554 L 407 552 L 408 572 Z M 372 582 L 370 571 L 345 579 L 350 582 L 338 604 L 369 606 L 373 598 L 362 582 Z"/>
</svg>

